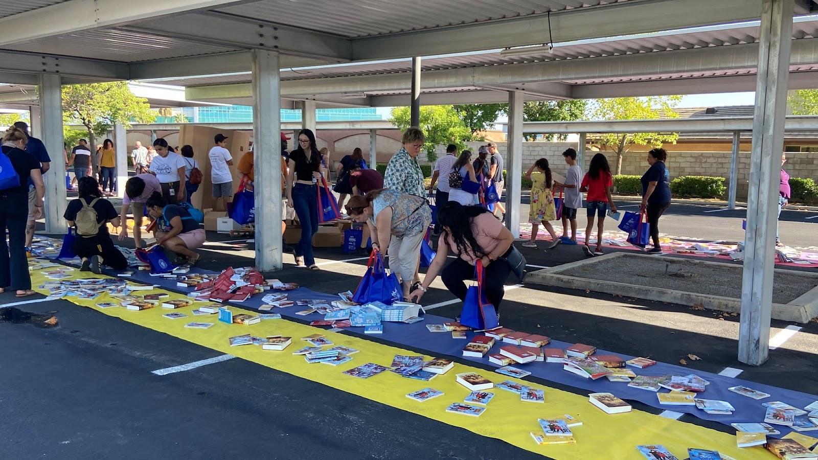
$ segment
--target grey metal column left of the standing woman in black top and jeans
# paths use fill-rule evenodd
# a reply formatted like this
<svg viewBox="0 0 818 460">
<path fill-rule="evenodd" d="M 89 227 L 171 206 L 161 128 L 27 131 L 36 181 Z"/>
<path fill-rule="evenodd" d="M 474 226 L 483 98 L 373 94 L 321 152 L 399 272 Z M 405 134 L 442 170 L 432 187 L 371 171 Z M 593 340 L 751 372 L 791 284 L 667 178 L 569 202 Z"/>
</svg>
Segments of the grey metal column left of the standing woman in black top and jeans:
<svg viewBox="0 0 818 460">
<path fill-rule="evenodd" d="M 255 264 L 281 269 L 281 86 L 279 54 L 253 50 L 253 151 L 255 177 Z"/>
</svg>

